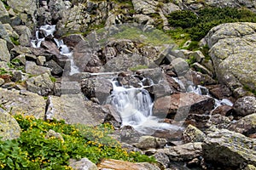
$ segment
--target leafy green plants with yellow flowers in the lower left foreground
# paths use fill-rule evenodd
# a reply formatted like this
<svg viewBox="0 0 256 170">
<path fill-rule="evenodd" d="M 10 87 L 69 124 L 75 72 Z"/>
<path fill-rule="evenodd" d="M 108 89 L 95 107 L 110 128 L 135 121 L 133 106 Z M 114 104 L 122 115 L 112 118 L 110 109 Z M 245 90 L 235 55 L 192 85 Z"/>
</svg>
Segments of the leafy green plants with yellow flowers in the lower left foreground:
<svg viewBox="0 0 256 170">
<path fill-rule="evenodd" d="M 124 161 L 154 161 L 137 152 L 128 153 L 108 137 L 109 124 L 99 127 L 67 125 L 61 121 L 44 122 L 32 116 L 15 116 L 22 129 L 19 139 L 0 141 L 1 169 L 72 169 L 68 160 L 87 157 L 95 163 L 102 158 Z M 49 135 L 49 130 L 61 136 Z"/>
</svg>

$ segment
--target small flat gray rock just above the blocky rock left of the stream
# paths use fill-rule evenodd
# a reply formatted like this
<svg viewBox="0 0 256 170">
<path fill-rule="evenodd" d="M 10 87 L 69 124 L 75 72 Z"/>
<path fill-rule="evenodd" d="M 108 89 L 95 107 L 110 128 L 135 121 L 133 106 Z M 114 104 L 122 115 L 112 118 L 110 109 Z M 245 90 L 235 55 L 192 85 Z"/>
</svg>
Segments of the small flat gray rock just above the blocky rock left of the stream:
<svg viewBox="0 0 256 170">
<path fill-rule="evenodd" d="M 32 74 L 33 76 L 42 75 L 44 73 L 51 75 L 49 68 L 36 65 L 36 63 L 32 61 L 26 61 L 26 73 Z"/>
</svg>

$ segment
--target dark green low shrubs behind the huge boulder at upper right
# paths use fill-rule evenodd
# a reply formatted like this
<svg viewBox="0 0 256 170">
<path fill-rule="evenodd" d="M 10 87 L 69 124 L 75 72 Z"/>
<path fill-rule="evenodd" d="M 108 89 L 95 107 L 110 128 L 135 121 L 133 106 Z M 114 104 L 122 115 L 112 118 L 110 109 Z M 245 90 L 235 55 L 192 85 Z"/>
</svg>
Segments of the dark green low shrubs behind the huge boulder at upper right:
<svg viewBox="0 0 256 170">
<path fill-rule="evenodd" d="M 230 22 L 256 22 L 256 14 L 248 9 L 238 8 L 203 8 L 196 13 L 189 10 L 176 11 L 168 16 L 171 26 L 176 27 L 171 31 L 177 39 L 190 37 L 199 41 L 207 35 L 214 26 Z M 185 39 L 185 38 L 182 38 Z"/>
</svg>

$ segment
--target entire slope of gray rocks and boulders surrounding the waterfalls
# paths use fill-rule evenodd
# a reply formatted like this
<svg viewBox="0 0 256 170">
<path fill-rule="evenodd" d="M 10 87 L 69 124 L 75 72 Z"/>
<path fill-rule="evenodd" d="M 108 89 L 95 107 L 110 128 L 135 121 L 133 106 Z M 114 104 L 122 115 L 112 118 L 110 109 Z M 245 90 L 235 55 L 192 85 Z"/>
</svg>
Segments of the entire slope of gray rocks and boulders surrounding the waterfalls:
<svg viewBox="0 0 256 170">
<path fill-rule="evenodd" d="M 255 23 L 212 28 L 201 41 L 210 48 L 210 59 L 199 50 L 178 49 L 171 37 L 153 29 L 171 29 L 166 17 L 173 11 L 206 6 L 256 10 L 250 0 L 1 1 L 0 135 L 19 137 L 20 127 L 9 113 L 92 126 L 110 122 L 127 150 L 154 156 L 160 165 L 133 169 L 255 169 Z M 54 34 L 39 30 L 46 24 L 56 26 Z M 39 48 L 31 43 L 36 31 L 45 37 Z M 64 46 L 54 37 L 73 49 L 73 58 L 60 51 Z M 79 72 L 71 76 L 73 62 Z M 184 129 L 148 136 L 120 127 L 119 113 L 106 105 L 113 91 L 109 77 L 124 87 L 143 84 L 154 99 L 153 115 Z M 85 158 L 71 165 L 97 168 Z M 98 168 L 113 165 L 131 167 L 106 160 Z"/>
</svg>

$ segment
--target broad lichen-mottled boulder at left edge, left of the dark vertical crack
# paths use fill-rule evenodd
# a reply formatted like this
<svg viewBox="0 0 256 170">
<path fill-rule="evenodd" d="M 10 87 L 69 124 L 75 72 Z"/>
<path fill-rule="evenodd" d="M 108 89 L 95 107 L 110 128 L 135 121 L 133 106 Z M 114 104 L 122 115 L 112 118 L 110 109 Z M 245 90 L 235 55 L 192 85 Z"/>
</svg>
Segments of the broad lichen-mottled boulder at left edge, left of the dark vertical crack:
<svg viewBox="0 0 256 170">
<path fill-rule="evenodd" d="M 28 91 L 0 88 L 0 105 L 12 114 L 24 113 L 44 119 L 46 102 L 42 96 Z"/>
</svg>

